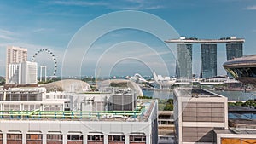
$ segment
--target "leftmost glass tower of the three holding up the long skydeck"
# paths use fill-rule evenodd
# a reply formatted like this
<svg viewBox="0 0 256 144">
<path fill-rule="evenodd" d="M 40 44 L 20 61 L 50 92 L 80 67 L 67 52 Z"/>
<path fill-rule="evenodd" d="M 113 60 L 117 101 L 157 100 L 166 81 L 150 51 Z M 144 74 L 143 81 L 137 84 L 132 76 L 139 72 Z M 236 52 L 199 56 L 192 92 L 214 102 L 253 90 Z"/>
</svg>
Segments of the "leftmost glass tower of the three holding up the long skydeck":
<svg viewBox="0 0 256 144">
<path fill-rule="evenodd" d="M 192 44 L 177 44 L 177 78 L 192 78 Z"/>
</svg>

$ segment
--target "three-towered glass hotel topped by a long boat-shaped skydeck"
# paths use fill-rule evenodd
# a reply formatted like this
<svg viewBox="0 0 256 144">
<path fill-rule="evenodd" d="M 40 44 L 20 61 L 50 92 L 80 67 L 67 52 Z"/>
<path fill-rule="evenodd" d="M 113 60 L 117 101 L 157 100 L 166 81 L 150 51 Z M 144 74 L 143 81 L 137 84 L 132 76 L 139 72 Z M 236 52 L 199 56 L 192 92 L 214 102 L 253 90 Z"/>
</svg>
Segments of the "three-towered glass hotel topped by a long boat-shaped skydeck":
<svg viewBox="0 0 256 144">
<path fill-rule="evenodd" d="M 177 78 L 192 78 L 192 44 L 201 44 L 201 78 L 217 76 L 217 44 L 226 44 L 227 60 L 242 56 L 243 38 L 223 37 L 220 39 L 198 39 L 180 37 L 166 40 L 166 43 L 177 43 Z"/>
</svg>

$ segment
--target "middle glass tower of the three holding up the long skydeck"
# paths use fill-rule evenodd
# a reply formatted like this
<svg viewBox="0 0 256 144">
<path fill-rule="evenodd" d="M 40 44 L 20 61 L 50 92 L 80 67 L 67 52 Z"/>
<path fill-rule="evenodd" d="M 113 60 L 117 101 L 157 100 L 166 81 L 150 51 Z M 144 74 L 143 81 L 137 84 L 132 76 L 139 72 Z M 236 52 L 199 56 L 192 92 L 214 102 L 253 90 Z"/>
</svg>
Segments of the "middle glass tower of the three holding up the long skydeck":
<svg viewBox="0 0 256 144">
<path fill-rule="evenodd" d="M 201 76 L 217 76 L 217 44 L 201 44 Z"/>
</svg>

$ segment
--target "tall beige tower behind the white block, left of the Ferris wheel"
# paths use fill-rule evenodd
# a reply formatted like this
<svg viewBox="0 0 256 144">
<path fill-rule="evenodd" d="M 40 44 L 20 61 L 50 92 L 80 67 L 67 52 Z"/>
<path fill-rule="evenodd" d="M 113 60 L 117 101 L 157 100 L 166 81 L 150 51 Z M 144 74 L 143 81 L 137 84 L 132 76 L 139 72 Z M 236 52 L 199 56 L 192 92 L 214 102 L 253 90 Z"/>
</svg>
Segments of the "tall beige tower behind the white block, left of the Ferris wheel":
<svg viewBox="0 0 256 144">
<path fill-rule="evenodd" d="M 8 46 L 6 49 L 6 84 L 9 84 L 9 64 L 17 64 L 27 60 L 27 49 Z"/>
</svg>

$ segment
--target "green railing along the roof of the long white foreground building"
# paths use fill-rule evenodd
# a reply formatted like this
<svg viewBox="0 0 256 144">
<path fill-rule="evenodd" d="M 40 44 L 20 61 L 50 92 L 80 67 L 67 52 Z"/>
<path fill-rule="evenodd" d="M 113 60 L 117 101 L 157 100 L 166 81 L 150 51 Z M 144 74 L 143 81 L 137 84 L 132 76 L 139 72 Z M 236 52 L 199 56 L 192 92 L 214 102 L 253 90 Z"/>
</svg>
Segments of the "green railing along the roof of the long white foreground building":
<svg viewBox="0 0 256 144">
<path fill-rule="evenodd" d="M 0 119 L 110 119 L 142 118 L 144 106 L 137 106 L 135 111 L 0 111 Z"/>
</svg>

